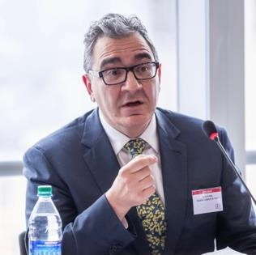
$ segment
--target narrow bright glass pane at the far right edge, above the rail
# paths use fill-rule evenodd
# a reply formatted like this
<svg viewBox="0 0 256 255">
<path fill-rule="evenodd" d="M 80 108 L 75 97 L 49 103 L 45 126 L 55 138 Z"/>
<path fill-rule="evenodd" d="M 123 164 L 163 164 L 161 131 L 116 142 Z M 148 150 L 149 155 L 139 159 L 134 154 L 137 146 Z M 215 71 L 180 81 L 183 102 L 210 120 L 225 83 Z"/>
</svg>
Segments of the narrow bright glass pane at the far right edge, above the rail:
<svg viewBox="0 0 256 255">
<path fill-rule="evenodd" d="M 256 150 L 256 1 L 245 1 L 245 147 Z"/>
</svg>

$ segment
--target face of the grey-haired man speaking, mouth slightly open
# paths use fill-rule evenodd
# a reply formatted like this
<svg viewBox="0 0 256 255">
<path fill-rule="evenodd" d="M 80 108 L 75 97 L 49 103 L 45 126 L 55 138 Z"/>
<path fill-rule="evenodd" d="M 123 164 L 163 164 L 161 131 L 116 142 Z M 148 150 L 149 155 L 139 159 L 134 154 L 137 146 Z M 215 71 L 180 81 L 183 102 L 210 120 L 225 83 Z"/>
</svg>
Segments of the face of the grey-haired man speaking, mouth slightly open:
<svg viewBox="0 0 256 255">
<path fill-rule="evenodd" d="M 92 52 L 92 70 L 154 61 L 150 47 L 139 33 L 122 39 L 100 37 Z M 91 75 L 83 77 L 83 81 L 113 128 L 130 138 L 139 136 L 147 128 L 160 91 L 160 67 L 156 77 L 147 80 L 138 81 L 129 71 L 126 82 L 117 85 L 105 85 L 101 78 Z"/>
</svg>

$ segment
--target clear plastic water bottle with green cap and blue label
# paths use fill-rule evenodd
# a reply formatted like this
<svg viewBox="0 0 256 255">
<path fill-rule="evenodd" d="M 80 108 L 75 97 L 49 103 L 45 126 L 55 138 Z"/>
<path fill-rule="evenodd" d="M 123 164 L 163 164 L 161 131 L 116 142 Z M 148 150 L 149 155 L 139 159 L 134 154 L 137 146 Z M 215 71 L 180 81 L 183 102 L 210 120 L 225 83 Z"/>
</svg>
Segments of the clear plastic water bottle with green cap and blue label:
<svg viewBox="0 0 256 255">
<path fill-rule="evenodd" d="M 61 255 L 62 219 L 52 201 L 52 186 L 38 186 L 28 220 L 29 255 Z"/>
</svg>

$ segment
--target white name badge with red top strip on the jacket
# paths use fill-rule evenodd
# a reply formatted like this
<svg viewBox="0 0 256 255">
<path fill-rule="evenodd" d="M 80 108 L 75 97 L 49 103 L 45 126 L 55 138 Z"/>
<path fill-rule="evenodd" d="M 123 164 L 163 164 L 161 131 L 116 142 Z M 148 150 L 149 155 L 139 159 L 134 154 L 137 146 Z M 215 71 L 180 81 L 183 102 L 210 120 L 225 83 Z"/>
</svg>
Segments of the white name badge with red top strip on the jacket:
<svg viewBox="0 0 256 255">
<path fill-rule="evenodd" d="M 192 190 L 194 215 L 223 210 L 221 187 Z"/>
</svg>

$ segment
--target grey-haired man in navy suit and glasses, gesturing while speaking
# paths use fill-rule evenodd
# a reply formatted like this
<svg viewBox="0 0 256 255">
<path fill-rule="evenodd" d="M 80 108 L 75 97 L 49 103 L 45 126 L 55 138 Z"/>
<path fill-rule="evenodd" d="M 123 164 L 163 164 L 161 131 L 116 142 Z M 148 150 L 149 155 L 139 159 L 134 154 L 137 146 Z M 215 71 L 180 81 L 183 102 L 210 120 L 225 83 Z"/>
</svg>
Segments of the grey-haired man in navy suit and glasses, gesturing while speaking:
<svg viewBox="0 0 256 255">
<path fill-rule="evenodd" d="M 52 185 L 64 255 L 202 254 L 215 240 L 256 254 L 250 197 L 202 121 L 156 108 L 161 65 L 139 19 L 105 15 L 84 43 L 83 82 L 98 108 L 24 155 L 27 221 L 37 185 Z M 199 208 L 202 190 L 215 208 Z"/>
</svg>

